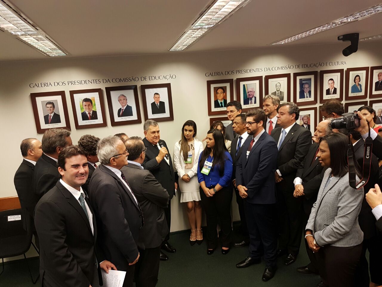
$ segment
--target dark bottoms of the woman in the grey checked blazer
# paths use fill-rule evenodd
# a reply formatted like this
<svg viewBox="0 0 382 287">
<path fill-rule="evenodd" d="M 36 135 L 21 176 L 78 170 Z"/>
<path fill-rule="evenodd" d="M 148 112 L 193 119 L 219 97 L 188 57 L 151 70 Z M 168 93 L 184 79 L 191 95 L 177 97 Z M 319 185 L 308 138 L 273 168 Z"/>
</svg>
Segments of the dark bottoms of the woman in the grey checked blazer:
<svg viewBox="0 0 382 287">
<path fill-rule="evenodd" d="M 351 247 L 324 246 L 314 255 L 325 287 L 359 287 L 354 280 L 362 243 Z"/>
</svg>

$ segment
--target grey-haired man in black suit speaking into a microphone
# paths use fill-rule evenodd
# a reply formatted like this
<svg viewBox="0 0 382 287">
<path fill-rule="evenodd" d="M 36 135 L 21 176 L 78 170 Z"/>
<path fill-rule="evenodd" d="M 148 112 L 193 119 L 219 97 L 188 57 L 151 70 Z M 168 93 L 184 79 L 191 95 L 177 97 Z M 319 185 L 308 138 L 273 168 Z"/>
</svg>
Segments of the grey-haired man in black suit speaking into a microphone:
<svg viewBox="0 0 382 287">
<path fill-rule="evenodd" d="M 162 249 L 170 253 L 175 253 L 176 249 L 168 243 L 171 225 L 171 199 L 175 194 L 175 190 L 178 188 L 175 183 L 171 155 L 168 152 L 166 142 L 160 139 L 159 125 L 156 121 L 147 120 L 143 124 L 143 129 L 145 135 L 143 143 L 147 150 L 142 166 L 145 170 L 151 171 L 152 175 L 155 176 L 162 187 L 167 190 L 169 196 L 168 207 L 165 208 L 168 233 L 162 243 Z M 168 260 L 168 256 L 161 252 L 160 259 L 163 261 Z"/>
</svg>

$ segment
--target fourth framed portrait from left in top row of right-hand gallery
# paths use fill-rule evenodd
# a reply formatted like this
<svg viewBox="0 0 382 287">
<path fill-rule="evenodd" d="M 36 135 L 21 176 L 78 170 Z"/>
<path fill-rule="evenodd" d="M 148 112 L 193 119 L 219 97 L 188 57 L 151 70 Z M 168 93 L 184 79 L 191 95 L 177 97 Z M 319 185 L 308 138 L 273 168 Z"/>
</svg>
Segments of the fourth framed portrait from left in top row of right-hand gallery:
<svg viewBox="0 0 382 287">
<path fill-rule="evenodd" d="M 317 104 L 317 71 L 293 73 L 293 95 L 298 106 Z"/>
</svg>

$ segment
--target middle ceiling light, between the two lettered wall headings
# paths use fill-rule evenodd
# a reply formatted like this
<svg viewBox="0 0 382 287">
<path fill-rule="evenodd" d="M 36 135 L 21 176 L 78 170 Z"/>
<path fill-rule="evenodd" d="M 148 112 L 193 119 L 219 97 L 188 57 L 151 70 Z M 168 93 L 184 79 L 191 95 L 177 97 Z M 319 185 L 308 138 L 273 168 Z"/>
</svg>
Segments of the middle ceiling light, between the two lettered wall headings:
<svg viewBox="0 0 382 287">
<path fill-rule="evenodd" d="M 185 33 L 176 41 L 169 51 L 183 51 L 204 33 L 227 19 L 238 8 L 251 0 L 215 0 L 210 7 L 197 18 Z"/>
</svg>

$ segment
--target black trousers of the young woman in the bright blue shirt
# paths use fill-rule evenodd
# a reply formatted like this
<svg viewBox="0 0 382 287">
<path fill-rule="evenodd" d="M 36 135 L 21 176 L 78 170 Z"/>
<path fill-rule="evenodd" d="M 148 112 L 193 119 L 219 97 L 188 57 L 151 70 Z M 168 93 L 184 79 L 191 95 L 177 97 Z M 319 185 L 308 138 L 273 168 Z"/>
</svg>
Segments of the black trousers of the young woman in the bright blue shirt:
<svg viewBox="0 0 382 287">
<path fill-rule="evenodd" d="M 209 187 L 213 188 L 213 187 Z M 207 197 L 202 188 L 199 188 L 202 206 L 206 212 L 207 220 L 207 248 L 215 249 L 217 247 L 217 223 L 220 222 L 222 228 L 222 247 L 230 247 L 232 242 L 231 227 L 231 201 L 232 188 L 223 187 L 212 197 Z"/>
</svg>

